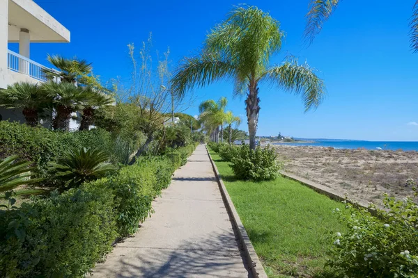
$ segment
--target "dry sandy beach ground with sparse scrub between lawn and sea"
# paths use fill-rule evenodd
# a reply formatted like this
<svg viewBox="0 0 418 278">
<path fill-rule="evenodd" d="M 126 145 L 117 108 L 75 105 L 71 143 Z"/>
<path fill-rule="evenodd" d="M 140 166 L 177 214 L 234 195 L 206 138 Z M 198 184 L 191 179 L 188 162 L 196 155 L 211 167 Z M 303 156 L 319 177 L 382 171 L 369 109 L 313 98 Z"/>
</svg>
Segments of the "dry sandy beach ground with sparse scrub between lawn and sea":
<svg viewBox="0 0 418 278">
<path fill-rule="evenodd" d="M 382 204 L 383 193 L 412 196 L 407 179 L 418 179 L 418 152 L 274 145 L 284 170 L 348 193 L 349 199 Z M 415 199 L 417 201 L 417 199 Z"/>
</svg>

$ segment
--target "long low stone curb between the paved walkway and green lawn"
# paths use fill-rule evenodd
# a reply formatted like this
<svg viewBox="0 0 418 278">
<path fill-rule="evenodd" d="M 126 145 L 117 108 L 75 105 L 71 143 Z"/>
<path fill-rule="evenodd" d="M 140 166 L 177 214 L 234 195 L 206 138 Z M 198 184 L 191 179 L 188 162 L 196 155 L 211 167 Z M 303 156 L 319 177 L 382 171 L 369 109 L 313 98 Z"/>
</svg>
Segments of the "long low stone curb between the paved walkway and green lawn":
<svg viewBox="0 0 418 278">
<path fill-rule="evenodd" d="M 251 244 L 251 240 L 249 240 L 247 231 L 245 231 L 244 225 L 240 220 L 240 216 L 238 215 L 237 211 L 235 210 L 235 206 L 233 206 L 233 202 L 231 197 L 229 197 L 228 191 L 225 188 L 224 181 L 222 181 L 221 177 L 219 176 L 219 171 L 215 165 L 215 162 L 210 156 L 208 147 L 206 146 L 206 152 L 208 152 L 208 156 L 210 158 L 210 163 L 212 164 L 213 172 L 215 172 L 215 176 L 217 179 L 217 183 L 219 185 L 219 190 L 221 191 L 222 199 L 224 199 L 224 204 L 226 207 L 226 211 L 228 211 L 229 217 L 231 218 L 233 229 L 238 236 L 238 240 L 240 241 L 242 252 L 245 255 L 245 260 L 247 262 L 247 268 L 251 271 L 251 274 L 254 278 L 268 278 L 265 274 L 263 265 L 261 265 L 260 260 L 254 250 L 253 245 Z"/>
</svg>

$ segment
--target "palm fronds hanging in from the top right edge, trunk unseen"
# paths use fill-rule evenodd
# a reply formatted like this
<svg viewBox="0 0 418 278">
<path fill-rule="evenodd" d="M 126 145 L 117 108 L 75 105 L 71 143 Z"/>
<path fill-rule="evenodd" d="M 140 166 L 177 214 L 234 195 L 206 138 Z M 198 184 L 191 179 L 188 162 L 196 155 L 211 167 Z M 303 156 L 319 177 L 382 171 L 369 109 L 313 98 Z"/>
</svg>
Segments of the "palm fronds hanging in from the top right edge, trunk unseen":
<svg viewBox="0 0 418 278">
<path fill-rule="evenodd" d="M 311 0 L 309 12 L 306 15 L 307 25 L 304 31 L 304 37 L 309 44 L 318 35 L 324 22 L 334 13 L 339 2 L 340 0 Z M 410 47 L 416 52 L 418 51 L 418 1 L 415 1 L 415 5 L 412 8 L 410 28 Z"/>
</svg>

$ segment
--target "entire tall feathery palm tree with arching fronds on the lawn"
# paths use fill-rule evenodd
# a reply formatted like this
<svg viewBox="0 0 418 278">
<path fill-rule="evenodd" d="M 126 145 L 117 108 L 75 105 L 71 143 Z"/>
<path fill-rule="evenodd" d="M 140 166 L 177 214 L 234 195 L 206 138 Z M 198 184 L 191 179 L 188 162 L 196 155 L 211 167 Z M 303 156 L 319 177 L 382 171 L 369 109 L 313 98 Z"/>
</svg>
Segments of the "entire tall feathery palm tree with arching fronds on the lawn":
<svg viewBox="0 0 418 278">
<path fill-rule="evenodd" d="M 288 58 L 281 65 L 269 64 L 273 54 L 281 49 L 284 34 L 279 27 L 276 19 L 254 6 L 235 8 L 208 34 L 201 54 L 183 60 L 171 81 L 172 90 L 181 97 L 195 86 L 233 79 L 235 95 L 247 91 L 251 149 L 256 147 L 261 82 L 301 94 L 305 111 L 317 107 L 325 92 L 323 80 L 307 63 L 299 65 L 295 58 Z"/>
</svg>

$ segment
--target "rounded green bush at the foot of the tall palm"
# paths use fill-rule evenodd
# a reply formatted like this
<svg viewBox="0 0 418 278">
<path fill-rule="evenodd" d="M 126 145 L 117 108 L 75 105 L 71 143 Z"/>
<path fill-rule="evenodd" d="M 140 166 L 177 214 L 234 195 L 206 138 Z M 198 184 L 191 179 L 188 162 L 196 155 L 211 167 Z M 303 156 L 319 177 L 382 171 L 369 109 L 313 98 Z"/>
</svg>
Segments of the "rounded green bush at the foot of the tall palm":
<svg viewBox="0 0 418 278">
<path fill-rule="evenodd" d="M 274 148 L 268 146 L 256 150 L 248 145 L 239 147 L 238 154 L 231 159 L 231 168 L 238 179 L 267 181 L 279 175 L 280 165 Z"/>
</svg>

